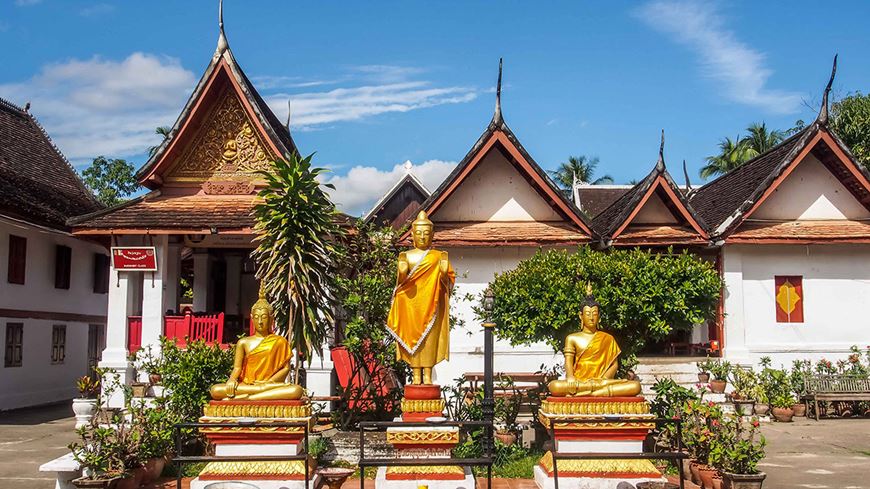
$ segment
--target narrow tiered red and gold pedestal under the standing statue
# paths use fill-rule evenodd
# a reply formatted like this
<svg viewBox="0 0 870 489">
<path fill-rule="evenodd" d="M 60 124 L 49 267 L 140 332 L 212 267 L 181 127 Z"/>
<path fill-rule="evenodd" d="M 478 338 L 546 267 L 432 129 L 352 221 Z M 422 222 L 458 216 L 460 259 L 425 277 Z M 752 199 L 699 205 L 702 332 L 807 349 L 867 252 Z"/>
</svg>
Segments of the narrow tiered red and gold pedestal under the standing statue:
<svg viewBox="0 0 870 489">
<path fill-rule="evenodd" d="M 402 421 L 421 422 L 443 416 L 444 400 L 438 385 L 405 386 L 402 399 Z M 394 426 L 387 428 L 387 443 L 393 445 L 399 458 L 450 458 L 459 443 L 458 426 Z M 389 489 L 473 489 L 471 469 L 459 465 L 424 465 L 379 467 L 375 487 Z"/>
</svg>

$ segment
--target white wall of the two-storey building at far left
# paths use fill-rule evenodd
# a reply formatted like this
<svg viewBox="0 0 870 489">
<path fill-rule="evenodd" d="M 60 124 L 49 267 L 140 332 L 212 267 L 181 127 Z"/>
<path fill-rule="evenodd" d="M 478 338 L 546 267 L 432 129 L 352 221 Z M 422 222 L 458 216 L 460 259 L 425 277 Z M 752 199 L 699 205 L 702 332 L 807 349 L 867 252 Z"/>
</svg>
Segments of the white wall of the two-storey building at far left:
<svg viewBox="0 0 870 489">
<path fill-rule="evenodd" d="M 9 235 L 27 238 L 24 285 L 7 281 Z M 72 248 L 70 288 L 56 289 L 55 246 Z M 106 294 L 93 292 L 94 253 L 108 254 L 100 245 L 69 235 L 0 218 L 0 309 L 105 316 Z M 0 317 L 0 358 L 5 356 L 6 324 L 23 323 L 21 367 L 0 361 L 0 410 L 71 399 L 75 379 L 87 371 L 88 323 L 58 319 Z M 66 357 L 51 364 L 51 331 L 66 325 Z"/>
</svg>

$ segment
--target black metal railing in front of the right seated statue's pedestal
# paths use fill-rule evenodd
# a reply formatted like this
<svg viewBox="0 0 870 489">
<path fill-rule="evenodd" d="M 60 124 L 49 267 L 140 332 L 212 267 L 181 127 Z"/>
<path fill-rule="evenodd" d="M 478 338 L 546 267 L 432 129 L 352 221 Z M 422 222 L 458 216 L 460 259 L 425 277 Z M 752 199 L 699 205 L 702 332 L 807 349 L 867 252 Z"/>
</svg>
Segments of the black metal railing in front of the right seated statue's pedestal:
<svg viewBox="0 0 870 489">
<path fill-rule="evenodd" d="M 643 418 L 633 416 L 608 416 L 606 418 L 550 418 L 550 426 L 547 431 L 550 434 L 550 439 L 553 440 L 553 450 L 550 452 L 553 455 L 553 487 L 559 489 L 559 468 L 557 460 L 676 460 L 677 471 L 680 476 L 680 489 L 685 489 L 685 480 L 683 472 L 682 460 L 689 458 L 688 454 L 683 451 L 683 428 L 682 420 L 669 418 Z M 616 424 L 616 423 L 655 423 L 659 424 L 674 424 L 677 427 L 677 448 L 675 451 L 665 452 L 636 452 L 636 453 L 565 453 L 558 454 L 556 441 L 555 427 L 557 423 L 574 423 L 574 424 Z"/>
</svg>

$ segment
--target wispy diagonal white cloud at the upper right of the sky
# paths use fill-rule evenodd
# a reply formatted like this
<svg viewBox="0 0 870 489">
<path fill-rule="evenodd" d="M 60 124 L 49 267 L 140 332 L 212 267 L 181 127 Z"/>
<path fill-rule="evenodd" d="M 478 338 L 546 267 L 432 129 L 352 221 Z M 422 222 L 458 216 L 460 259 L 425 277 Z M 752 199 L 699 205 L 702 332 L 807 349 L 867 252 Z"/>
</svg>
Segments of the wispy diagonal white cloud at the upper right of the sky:
<svg viewBox="0 0 870 489">
<path fill-rule="evenodd" d="M 737 39 L 713 3 L 654 0 L 635 15 L 698 54 L 704 75 L 719 82 L 730 100 L 779 114 L 800 109 L 800 94 L 767 86 L 773 71 L 764 54 Z"/>
</svg>

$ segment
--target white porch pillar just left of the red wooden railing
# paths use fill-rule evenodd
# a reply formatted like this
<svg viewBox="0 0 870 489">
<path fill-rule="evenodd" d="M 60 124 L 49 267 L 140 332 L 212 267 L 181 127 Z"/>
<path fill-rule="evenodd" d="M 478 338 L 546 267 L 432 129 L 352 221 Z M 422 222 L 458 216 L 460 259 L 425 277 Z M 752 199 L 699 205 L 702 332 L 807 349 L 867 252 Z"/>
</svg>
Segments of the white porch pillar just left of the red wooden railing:
<svg viewBox="0 0 870 489">
<path fill-rule="evenodd" d="M 160 348 L 163 335 L 163 313 L 166 311 L 164 284 L 169 268 L 169 236 L 154 238 L 157 271 L 142 272 L 142 348 L 151 346 L 152 352 Z"/>
</svg>

